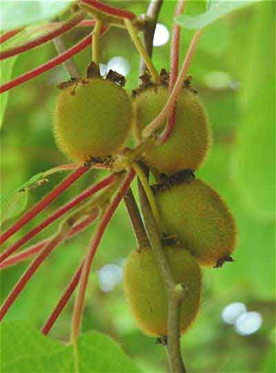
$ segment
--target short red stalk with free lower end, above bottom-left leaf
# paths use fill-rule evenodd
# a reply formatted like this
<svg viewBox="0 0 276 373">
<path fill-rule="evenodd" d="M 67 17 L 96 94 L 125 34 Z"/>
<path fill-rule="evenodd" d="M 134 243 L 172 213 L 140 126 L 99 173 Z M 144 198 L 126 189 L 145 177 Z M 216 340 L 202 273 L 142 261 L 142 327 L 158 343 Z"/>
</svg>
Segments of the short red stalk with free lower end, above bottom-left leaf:
<svg viewBox="0 0 276 373">
<path fill-rule="evenodd" d="M 46 324 L 41 329 L 41 332 L 45 335 L 47 335 L 50 332 L 50 329 L 52 329 L 52 325 L 55 324 L 57 321 L 57 318 L 63 311 L 64 307 L 67 305 L 68 301 L 70 300 L 73 292 L 75 291 L 78 283 L 79 278 L 81 277 L 81 270 L 83 268 L 83 262 L 81 263 L 81 266 L 77 269 L 77 272 L 73 276 L 72 280 L 70 281 L 68 287 L 66 288 L 66 291 L 61 296 L 59 303 L 57 303 L 57 306 L 55 307 L 52 314 L 50 314 L 50 317 L 48 318 L 48 321 L 46 321 Z"/>
</svg>

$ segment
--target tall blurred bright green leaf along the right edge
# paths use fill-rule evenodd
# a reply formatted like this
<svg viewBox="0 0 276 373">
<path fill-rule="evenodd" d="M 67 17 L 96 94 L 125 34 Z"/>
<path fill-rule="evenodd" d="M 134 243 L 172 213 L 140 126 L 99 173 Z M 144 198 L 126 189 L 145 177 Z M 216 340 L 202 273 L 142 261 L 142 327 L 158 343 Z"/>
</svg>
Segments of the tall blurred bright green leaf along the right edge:
<svg viewBox="0 0 276 373">
<path fill-rule="evenodd" d="M 244 206 L 261 220 L 275 216 L 275 23 L 273 3 L 259 4 L 249 33 L 234 172 Z"/>
</svg>

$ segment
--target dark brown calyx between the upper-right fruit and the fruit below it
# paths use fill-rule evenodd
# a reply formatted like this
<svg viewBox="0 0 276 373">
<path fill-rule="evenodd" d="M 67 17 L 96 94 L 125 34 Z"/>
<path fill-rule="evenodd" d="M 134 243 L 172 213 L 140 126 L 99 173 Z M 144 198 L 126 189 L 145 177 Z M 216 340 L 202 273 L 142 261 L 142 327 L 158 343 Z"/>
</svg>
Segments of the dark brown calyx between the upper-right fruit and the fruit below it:
<svg viewBox="0 0 276 373">
<path fill-rule="evenodd" d="M 159 175 L 159 182 L 152 185 L 152 191 L 155 193 L 161 189 L 170 189 L 174 185 L 181 184 L 182 182 L 190 183 L 195 180 L 195 173 L 193 170 L 187 169 L 179 171 L 174 175 L 167 176 L 165 173 Z"/>
</svg>

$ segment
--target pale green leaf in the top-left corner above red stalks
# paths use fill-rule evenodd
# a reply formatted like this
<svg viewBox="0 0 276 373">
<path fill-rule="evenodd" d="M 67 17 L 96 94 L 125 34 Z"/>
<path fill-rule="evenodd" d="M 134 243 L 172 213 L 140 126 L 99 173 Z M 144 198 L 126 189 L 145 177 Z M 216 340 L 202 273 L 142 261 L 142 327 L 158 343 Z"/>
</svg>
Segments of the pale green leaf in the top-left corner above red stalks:
<svg viewBox="0 0 276 373">
<path fill-rule="evenodd" d="M 39 0 L 1 2 L 1 31 L 28 26 L 35 22 L 46 21 L 59 15 L 70 6 L 72 0 Z"/>
</svg>

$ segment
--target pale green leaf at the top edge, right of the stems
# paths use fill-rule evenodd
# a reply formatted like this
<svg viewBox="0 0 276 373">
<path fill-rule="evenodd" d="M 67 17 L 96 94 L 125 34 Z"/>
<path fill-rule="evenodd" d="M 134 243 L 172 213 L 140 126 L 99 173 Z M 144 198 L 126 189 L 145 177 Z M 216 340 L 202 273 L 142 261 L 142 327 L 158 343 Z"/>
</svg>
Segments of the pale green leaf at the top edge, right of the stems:
<svg viewBox="0 0 276 373">
<path fill-rule="evenodd" d="M 244 8 L 255 2 L 254 0 L 247 1 L 209 1 L 207 3 L 207 11 L 197 16 L 181 15 L 177 17 L 177 23 L 190 30 L 196 30 L 209 26 L 211 23 L 229 15 L 231 12 Z"/>
</svg>

